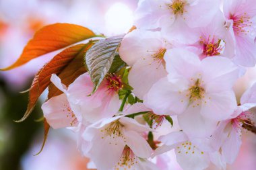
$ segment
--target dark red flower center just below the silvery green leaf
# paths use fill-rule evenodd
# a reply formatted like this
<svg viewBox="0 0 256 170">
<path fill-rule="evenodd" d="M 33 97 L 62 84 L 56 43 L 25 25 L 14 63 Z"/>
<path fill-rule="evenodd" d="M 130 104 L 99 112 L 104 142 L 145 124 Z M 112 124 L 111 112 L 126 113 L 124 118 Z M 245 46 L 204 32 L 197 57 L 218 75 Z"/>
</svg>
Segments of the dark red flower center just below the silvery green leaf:
<svg viewBox="0 0 256 170">
<path fill-rule="evenodd" d="M 110 91 L 119 91 L 119 89 L 123 88 L 123 83 L 120 75 L 107 75 L 106 82 L 108 90 Z"/>
</svg>

